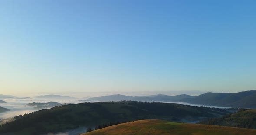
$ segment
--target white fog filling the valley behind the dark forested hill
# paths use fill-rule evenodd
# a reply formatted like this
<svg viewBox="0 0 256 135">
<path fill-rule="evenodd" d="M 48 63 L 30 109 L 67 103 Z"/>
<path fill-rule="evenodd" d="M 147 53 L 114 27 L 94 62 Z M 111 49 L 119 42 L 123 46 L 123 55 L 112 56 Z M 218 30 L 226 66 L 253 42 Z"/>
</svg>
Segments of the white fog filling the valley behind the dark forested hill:
<svg viewBox="0 0 256 135">
<path fill-rule="evenodd" d="M 10 111 L 6 111 L 3 113 L 0 113 L 0 120 L 1 119 L 7 119 L 10 117 L 14 117 L 14 116 L 18 116 L 18 115 L 24 115 L 25 113 L 32 113 L 34 111 L 40 110 L 40 109 L 45 109 L 45 108 L 51 108 L 53 106 L 61 106 L 63 104 L 69 104 L 69 103 L 82 103 L 82 102 L 101 102 L 102 100 L 86 100 L 86 98 L 75 98 L 75 97 L 65 97 L 65 96 L 61 96 L 58 95 L 56 97 L 56 95 L 54 95 L 55 97 L 32 97 L 32 98 L 0 98 L 0 100 L 5 101 L 6 103 L 0 103 L 1 107 L 7 108 Z M 59 97 L 60 96 L 60 97 Z M 151 96 L 157 96 L 157 95 L 151 95 Z M 146 96 L 138 96 L 138 97 L 146 97 Z M 150 96 L 149 96 L 150 97 Z M 90 99 L 87 98 L 87 99 Z M 106 99 L 105 101 L 121 101 L 121 100 L 127 100 L 127 98 L 123 98 L 121 97 L 119 100 L 115 100 L 112 97 L 110 99 Z M 130 100 L 130 99 L 128 99 Z M 135 100 L 135 101 L 143 101 L 143 100 Z M 144 100 L 144 101 L 150 101 L 150 100 Z M 155 101 L 155 102 L 165 102 L 165 103 L 178 103 L 178 104 L 184 104 L 184 105 L 192 105 L 192 106 L 204 106 L 204 107 L 220 107 L 220 106 L 207 106 L 207 105 L 202 105 L 202 104 L 191 104 L 191 103 L 187 103 L 187 102 L 167 102 L 167 101 L 158 101 L 158 100 L 151 100 L 151 101 Z M 36 106 L 29 106 L 28 104 L 31 103 L 45 103 L 43 107 L 38 107 Z M 47 106 L 49 104 L 49 102 L 57 102 L 60 103 L 58 105 L 53 105 L 53 106 Z M 220 107 L 220 108 L 225 108 L 225 107 Z"/>
</svg>

